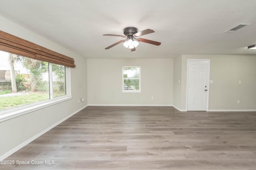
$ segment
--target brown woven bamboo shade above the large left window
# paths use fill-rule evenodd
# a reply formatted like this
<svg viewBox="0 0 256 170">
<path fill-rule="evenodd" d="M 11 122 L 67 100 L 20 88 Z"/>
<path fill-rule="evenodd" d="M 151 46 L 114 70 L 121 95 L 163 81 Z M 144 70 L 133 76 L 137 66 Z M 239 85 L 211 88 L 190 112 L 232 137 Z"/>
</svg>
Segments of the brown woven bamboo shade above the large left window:
<svg viewBox="0 0 256 170">
<path fill-rule="evenodd" d="M 56 53 L 50 49 L 3 31 L 0 31 L 0 50 L 72 68 L 76 66 L 74 59 L 71 57 Z"/>
</svg>

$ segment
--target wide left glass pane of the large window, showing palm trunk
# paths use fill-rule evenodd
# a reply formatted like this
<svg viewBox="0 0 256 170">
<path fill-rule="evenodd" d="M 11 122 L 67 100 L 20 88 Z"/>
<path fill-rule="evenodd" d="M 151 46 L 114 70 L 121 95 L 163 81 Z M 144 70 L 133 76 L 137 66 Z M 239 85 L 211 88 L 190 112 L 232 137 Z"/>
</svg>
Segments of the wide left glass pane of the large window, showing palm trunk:
<svg viewBox="0 0 256 170">
<path fill-rule="evenodd" d="M 49 99 L 47 62 L 0 51 L 0 111 Z"/>
</svg>

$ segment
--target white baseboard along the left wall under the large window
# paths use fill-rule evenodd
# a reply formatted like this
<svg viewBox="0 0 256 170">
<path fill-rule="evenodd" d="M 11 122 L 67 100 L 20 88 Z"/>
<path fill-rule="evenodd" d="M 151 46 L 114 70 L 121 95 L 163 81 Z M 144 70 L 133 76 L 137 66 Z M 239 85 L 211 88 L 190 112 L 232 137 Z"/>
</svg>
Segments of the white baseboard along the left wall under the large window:
<svg viewBox="0 0 256 170">
<path fill-rule="evenodd" d="M 50 127 L 48 127 L 47 129 L 45 129 L 44 131 L 36 134 L 35 136 L 31 137 L 30 139 L 26 140 L 25 142 L 21 143 L 20 145 L 18 145 L 17 147 L 11 149 L 10 151 L 6 152 L 5 154 L 0 156 L 0 160 L 4 160 L 5 158 L 7 158 L 8 156 L 10 156 L 11 154 L 13 154 L 14 152 L 22 149 L 24 146 L 28 145 L 30 142 L 34 141 L 36 138 L 40 137 L 41 135 L 43 135 L 44 133 L 50 131 L 52 128 L 54 128 L 55 126 L 59 125 L 60 123 L 62 123 L 63 121 L 65 121 L 66 119 L 70 118 L 72 115 L 78 113 L 79 111 L 81 111 L 82 109 L 84 109 L 85 107 L 87 107 L 88 105 L 78 109 L 77 111 L 75 111 L 74 113 L 68 115 L 67 117 L 63 118 L 62 120 L 58 121 L 57 123 L 54 123 L 53 125 L 51 125 Z"/>
</svg>

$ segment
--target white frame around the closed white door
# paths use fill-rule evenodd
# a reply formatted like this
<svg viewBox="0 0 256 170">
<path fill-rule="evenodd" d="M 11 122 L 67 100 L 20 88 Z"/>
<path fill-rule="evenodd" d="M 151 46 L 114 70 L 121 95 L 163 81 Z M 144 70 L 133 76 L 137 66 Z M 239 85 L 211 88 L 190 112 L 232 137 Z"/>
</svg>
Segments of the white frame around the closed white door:
<svg viewBox="0 0 256 170">
<path fill-rule="evenodd" d="M 186 110 L 188 111 L 188 63 L 189 61 L 207 61 L 208 67 L 208 80 L 207 80 L 207 97 L 206 97 L 206 111 L 209 111 L 209 91 L 210 91 L 210 59 L 188 59 L 187 60 L 187 87 L 186 87 Z"/>
</svg>

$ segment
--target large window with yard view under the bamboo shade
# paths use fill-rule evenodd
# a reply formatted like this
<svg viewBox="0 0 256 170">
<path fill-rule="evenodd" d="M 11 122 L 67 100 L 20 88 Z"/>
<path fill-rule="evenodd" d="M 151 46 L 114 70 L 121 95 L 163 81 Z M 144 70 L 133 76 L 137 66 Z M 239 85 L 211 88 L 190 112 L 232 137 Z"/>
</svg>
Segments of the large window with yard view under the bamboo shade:
<svg viewBox="0 0 256 170">
<path fill-rule="evenodd" d="M 65 95 L 65 66 L 0 51 L 0 114 Z"/>
</svg>

